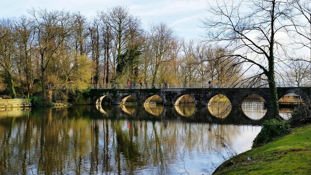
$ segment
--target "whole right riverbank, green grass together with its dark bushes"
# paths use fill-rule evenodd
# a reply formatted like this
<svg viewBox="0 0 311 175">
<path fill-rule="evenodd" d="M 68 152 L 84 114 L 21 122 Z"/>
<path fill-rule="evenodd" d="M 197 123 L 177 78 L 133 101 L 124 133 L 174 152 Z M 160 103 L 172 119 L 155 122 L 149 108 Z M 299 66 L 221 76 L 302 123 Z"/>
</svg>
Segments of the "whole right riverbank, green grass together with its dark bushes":
<svg viewBox="0 0 311 175">
<path fill-rule="evenodd" d="M 263 122 L 252 149 L 219 166 L 213 175 L 311 175 L 311 101 L 288 121 Z"/>
</svg>

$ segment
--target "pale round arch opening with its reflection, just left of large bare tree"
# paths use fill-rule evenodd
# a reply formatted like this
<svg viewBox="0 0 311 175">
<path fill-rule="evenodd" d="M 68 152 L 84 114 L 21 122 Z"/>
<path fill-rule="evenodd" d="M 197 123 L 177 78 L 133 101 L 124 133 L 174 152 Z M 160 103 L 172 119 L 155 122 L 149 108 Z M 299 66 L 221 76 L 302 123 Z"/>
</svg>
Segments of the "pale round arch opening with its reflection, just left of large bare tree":
<svg viewBox="0 0 311 175">
<path fill-rule="evenodd" d="M 241 108 L 243 113 L 252 120 L 261 119 L 266 113 L 266 101 L 257 94 L 251 94 L 243 99 Z"/>
</svg>

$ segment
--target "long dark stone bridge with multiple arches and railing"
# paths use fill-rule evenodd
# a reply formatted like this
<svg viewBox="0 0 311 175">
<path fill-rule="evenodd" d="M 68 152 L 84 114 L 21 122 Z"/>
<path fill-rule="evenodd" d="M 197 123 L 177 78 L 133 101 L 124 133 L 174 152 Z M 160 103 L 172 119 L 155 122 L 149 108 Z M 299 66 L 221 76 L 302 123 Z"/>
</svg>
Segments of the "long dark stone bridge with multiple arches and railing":
<svg viewBox="0 0 311 175">
<path fill-rule="evenodd" d="M 277 87 L 278 98 L 295 93 L 306 101 L 311 95 L 311 87 Z M 108 97 L 113 105 L 122 104 L 130 96 L 136 99 L 138 105 L 149 103 L 154 95 L 162 98 L 163 105 L 178 105 L 184 95 L 190 95 L 197 106 L 206 106 L 215 95 L 227 96 L 232 107 L 241 107 L 243 99 L 251 94 L 261 96 L 267 106 L 271 100 L 268 87 L 256 88 L 150 88 L 150 89 L 91 89 L 90 103 L 101 102 L 103 97 Z"/>
</svg>

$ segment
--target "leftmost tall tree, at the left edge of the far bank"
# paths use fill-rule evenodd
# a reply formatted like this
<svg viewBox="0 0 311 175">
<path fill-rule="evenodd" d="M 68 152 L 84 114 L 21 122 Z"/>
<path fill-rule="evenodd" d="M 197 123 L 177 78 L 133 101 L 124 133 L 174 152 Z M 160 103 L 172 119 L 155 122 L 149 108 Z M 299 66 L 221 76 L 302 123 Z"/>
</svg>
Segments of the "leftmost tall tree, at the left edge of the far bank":
<svg viewBox="0 0 311 175">
<path fill-rule="evenodd" d="M 11 19 L 0 20 L 0 66 L 8 75 L 10 87 L 12 90 L 12 96 L 16 96 L 12 62 L 15 52 L 15 34 L 14 34 L 14 23 Z"/>
</svg>

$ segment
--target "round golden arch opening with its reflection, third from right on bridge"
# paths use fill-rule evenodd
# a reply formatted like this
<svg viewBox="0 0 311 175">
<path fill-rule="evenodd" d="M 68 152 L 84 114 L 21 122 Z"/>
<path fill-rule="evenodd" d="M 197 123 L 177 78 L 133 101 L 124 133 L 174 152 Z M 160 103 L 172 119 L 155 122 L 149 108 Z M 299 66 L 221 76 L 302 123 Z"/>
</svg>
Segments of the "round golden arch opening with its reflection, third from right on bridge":
<svg viewBox="0 0 311 175">
<path fill-rule="evenodd" d="M 209 101 L 208 110 L 214 117 L 226 118 L 232 110 L 232 105 L 227 96 L 217 94 Z"/>
</svg>

